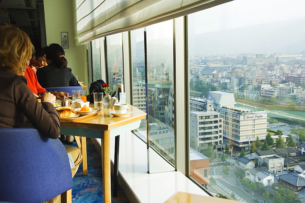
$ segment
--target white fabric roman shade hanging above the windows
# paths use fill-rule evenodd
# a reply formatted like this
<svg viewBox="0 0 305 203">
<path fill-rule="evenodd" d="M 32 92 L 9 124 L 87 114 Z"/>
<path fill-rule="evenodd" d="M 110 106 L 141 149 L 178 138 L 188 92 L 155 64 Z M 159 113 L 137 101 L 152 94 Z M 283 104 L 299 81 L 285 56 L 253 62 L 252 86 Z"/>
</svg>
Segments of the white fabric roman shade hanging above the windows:
<svg viewBox="0 0 305 203">
<path fill-rule="evenodd" d="M 74 0 L 76 45 L 229 1 L 232 0 Z"/>
</svg>

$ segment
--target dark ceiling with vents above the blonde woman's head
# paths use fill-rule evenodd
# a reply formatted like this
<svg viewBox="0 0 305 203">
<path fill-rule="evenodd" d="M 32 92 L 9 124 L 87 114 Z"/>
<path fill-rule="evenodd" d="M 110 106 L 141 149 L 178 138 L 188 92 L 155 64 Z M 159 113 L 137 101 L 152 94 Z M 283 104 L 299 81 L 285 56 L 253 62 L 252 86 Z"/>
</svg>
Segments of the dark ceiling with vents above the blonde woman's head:
<svg viewBox="0 0 305 203">
<path fill-rule="evenodd" d="M 0 0 L 0 24 L 27 32 L 35 49 L 45 46 L 43 0 Z"/>
</svg>

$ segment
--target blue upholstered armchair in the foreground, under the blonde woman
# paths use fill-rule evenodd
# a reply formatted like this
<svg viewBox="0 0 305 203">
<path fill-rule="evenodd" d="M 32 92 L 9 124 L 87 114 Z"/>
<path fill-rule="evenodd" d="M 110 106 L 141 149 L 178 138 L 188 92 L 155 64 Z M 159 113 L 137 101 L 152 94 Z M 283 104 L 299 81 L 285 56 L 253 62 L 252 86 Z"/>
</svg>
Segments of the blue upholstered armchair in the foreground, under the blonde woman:
<svg viewBox="0 0 305 203">
<path fill-rule="evenodd" d="M 41 203 L 61 194 L 71 202 L 65 147 L 33 128 L 0 129 L 0 201 Z"/>
</svg>

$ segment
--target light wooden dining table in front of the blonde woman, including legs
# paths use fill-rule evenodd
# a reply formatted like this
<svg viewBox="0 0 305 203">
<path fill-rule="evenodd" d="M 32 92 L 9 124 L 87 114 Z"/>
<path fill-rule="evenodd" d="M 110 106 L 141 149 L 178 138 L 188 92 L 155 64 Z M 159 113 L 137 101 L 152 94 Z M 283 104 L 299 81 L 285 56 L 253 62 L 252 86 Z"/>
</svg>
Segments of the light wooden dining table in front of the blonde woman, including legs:
<svg viewBox="0 0 305 203">
<path fill-rule="evenodd" d="M 89 106 L 94 107 L 94 104 L 90 103 Z M 104 105 L 104 110 L 97 115 L 78 121 L 64 122 L 61 120 L 60 122 L 60 134 L 81 137 L 84 176 L 88 173 L 86 137 L 101 138 L 103 202 L 105 203 L 111 202 L 110 138 L 124 136 L 125 132 L 139 128 L 141 119 L 146 116 L 144 111 L 130 104 L 128 104 L 128 110 L 133 112 L 124 117 L 116 117 L 108 113 L 113 111 L 110 105 Z M 26 124 L 28 125 L 25 127 L 31 127 L 30 123 Z"/>
</svg>

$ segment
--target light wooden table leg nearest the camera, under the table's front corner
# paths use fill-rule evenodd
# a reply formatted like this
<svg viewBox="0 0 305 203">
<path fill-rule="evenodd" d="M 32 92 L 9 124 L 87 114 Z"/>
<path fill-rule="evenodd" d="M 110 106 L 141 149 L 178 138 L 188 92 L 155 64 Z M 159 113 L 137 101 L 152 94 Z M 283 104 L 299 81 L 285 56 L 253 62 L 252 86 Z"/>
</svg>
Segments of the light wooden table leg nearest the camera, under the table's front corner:
<svg viewBox="0 0 305 203">
<path fill-rule="evenodd" d="M 103 139 L 101 139 L 102 147 L 102 178 L 104 203 L 111 203 L 111 172 L 110 172 L 110 130 L 105 130 Z"/>
</svg>

